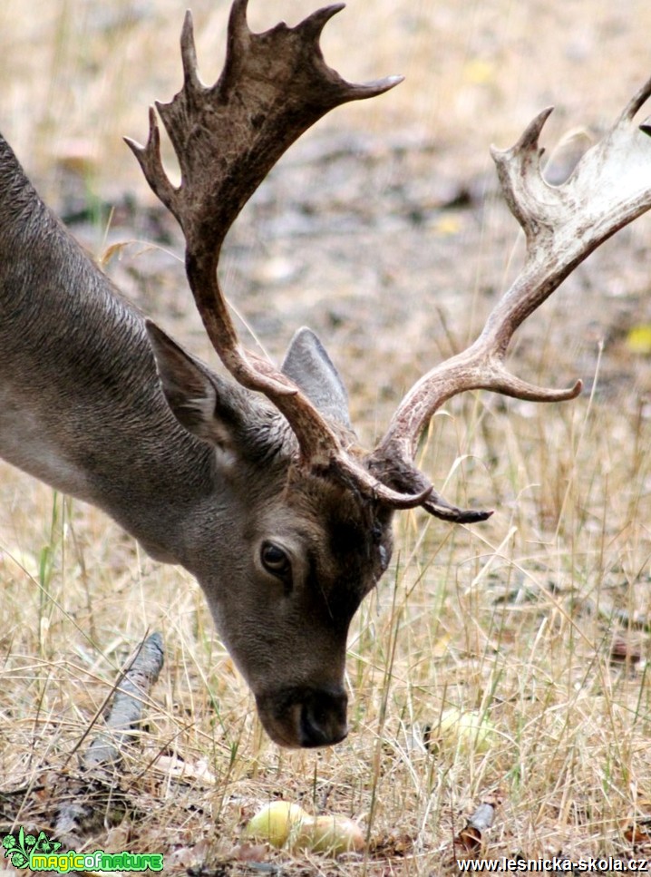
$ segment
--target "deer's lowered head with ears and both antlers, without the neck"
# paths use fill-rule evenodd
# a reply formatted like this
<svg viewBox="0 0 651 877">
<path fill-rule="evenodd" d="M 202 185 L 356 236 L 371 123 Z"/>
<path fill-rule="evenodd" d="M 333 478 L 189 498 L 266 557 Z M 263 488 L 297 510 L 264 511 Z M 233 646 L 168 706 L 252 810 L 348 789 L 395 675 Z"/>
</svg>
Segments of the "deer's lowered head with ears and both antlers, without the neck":
<svg viewBox="0 0 651 877">
<path fill-rule="evenodd" d="M 344 385 L 316 336 L 299 331 L 280 368 L 242 346 L 218 262 L 231 223 L 291 142 L 336 105 L 383 93 L 400 77 L 354 85 L 326 66 L 318 40 L 341 5 L 263 34 L 249 30 L 246 7 L 246 0 L 233 4 L 227 60 L 213 86 L 199 81 L 186 17 L 183 87 L 170 103 L 156 104 L 179 159 L 180 185 L 172 186 L 163 170 L 154 110 L 146 145 L 127 142 L 180 223 L 189 287 L 236 382 L 148 324 L 170 409 L 213 447 L 214 464 L 229 483 L 227 512 L 237 521 L 215 569 L 212 542 L 224 540 L 209 509 L 219 506 L 219 495 L 207 497 L 203 547 L 193 544 L 183 562 L 207 594 L 269 735 L 283 745 L 327 745 L 346 734 L 346 634 L 391 558 L 394 512 L 420 507 L 457 522 L 491 514 L 446 502 L 417 469 L 416 446 L 432 414 L 473 388 L 538 402 L 570 399 L 580 390 L 580 382 L 567 390 L 529 385 L 510 375 L 504 357 L 517 326 L 578 262 L 651 205 L 651 142 L 632 124 L 651 82 L 559 188 L 543 179 L 539 164 L 549 111 L 511 150 L 493 151 L 502 190 L 527 235 L 524 268 L 478 340 L 424 375 L 382 441 L 364 451 L 349 422 Z"/>
</svg>

